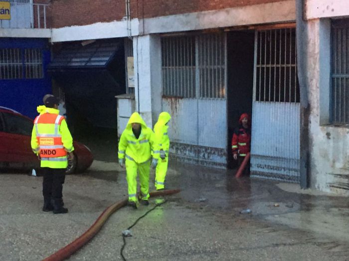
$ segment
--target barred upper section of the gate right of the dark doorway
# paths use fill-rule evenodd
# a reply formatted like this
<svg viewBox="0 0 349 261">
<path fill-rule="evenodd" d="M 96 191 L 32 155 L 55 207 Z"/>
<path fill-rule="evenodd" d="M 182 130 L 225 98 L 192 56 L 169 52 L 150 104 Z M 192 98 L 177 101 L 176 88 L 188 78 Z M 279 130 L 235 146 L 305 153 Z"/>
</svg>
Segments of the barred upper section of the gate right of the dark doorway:
<svg viewBox="0 0 349 261">
<path fill-rule="evenodd" d="M 257 31 L 256 101 L 299 102 L 296 30 Z"/>
</svg>

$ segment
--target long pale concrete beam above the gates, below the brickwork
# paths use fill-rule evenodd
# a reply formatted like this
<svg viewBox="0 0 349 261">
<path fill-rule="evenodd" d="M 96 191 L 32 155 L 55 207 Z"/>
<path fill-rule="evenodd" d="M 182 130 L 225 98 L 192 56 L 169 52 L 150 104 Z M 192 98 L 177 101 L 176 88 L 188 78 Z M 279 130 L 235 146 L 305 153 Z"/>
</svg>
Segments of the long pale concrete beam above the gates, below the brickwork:
<svg viewBox="0 0 349 261">
<path fill-rule="evenodd" d="M 295 0 L 236 6 L 225 9 L 166 15 L 127 21 L 100 21 L 52 29 L 52 42 L 137 36 L 143 34 L 224 28 L 295 21 Z"/>
</svg>

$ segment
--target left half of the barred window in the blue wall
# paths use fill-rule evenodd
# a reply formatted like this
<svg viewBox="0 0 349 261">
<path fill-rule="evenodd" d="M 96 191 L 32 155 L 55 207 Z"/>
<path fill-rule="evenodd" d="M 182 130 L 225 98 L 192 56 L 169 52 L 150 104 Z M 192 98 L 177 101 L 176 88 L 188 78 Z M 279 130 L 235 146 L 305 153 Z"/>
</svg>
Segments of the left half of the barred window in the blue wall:
<svg viewBox="0 0 349 261">
<path fill-rule="evenodd" d="M 22 52 L 19 48 L 0 49 L 0 80 L 23 79 Z"/>
</svg>

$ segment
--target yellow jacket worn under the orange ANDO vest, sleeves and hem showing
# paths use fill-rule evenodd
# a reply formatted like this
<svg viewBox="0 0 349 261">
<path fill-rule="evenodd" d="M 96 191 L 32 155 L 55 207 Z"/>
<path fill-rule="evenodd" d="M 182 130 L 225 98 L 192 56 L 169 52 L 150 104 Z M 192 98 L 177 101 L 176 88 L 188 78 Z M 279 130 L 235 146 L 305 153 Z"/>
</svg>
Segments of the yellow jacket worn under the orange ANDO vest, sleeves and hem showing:
<svg viewBox="0 0 349 261">
<path fill-rule="evenodd" d="M 40 115 L 44 113 L 52 113 L 57 115 L 59 114 L 59 110 L 54 108 L 47 108 L 44 105 L 38 106 L 37 112 L 40 113 Z M 37 131 L 38 134 L 52 135 L 55 133 L 55 124 L 34 124 L 33 130 L 31 132 L 31 149 L 35 154 L 38 154 L 40 149 L 37 141 Z M 65 119 L 63 119 L 59 125 L 58 134 L 61 136 L 64 149 L 67 152 L 74 151 L 73 138 L 71 137 Z M 41 158 L 40 166 L 41 168 L 66 169 L 68 166 L 67 156 L 55 158 Z"/>
</svg>

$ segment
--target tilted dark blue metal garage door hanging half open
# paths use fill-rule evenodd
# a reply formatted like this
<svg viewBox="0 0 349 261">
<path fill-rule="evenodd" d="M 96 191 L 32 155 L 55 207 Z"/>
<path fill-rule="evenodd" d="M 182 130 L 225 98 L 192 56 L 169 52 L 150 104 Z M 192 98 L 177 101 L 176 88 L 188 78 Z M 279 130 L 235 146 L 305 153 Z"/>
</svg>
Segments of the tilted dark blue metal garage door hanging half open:
<svg viewBox="0 0 349 261">
<path fill-rule="evenodd" d="M 83 68 L 106 68 L 120 48 L 116 39 L 100 40 L 83 46 L 81 42 L 65 44 L 48 65 L 49 71 Z"/>
</svg>

